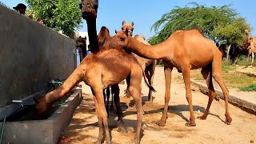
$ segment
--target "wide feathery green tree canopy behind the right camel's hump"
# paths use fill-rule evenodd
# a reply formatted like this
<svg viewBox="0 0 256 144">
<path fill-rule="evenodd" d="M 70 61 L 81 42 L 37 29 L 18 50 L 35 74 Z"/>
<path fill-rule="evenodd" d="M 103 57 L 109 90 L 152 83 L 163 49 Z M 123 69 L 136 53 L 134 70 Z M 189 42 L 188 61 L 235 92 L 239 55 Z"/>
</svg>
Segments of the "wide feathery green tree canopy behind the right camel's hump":
<svg viewBox="0 0 256 144">
<path fill-rule="evenodd" d="M 176 30 L 197 28 L 206 38 L 214 42 L 231 42 L 242 45 L 245 30 L 250 29 L 244 18 L 240 18 L 230 5 L 206 7 L 190 2 L 185 7 L 176 6 L 163 14 L 151 30 L 156 33 L 150 38 L 151 44 L 158 44 L 170 37 Z"/>
</svg>

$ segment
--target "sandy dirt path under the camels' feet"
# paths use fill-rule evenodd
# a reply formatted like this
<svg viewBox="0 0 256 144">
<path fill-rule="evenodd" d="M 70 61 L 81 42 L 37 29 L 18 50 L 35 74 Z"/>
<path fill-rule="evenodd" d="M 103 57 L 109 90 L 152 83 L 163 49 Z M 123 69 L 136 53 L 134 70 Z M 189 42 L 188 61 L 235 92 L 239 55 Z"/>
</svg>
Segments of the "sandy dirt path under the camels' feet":
<svg viewBox="0 0 256 144">
<path fill-rule="evenodd" d="M 165 80 L 163 68 L 157 67 L 154 78 L 154 105 L 146 102 L 143 106 L 146 114 L 142 119 L 142 144 L 148 143 L 250 143 L 256 141 L 256 116 L 248 114 L 239 108 L 230 106 L 230 114 L 233 122 L 227 126 L 225 121 L 224 102 L 214 101 L 210 114 L 206 121 L 196 119 L 197 126 L 185 126 L 187 118 L 190 117 L 188 103 L 186 102 L 184 84 L 177 78 L 180 75 L 177 70 L 173 72 L 171 85 L 171 99 L 166 126 L 159 127 L 154 123 L 161 118 L 164 105 Z M 132 99 L 124 98 L 123 90 L 126 85 L 121 86 L 121 102 L 124 113 L 124 122 L 128 134 L 120 134 L 117 131 L 117 118 L 114 111 L 110 113 L 109 126 L 112 135 L 112 143 L 131 143 L 134 138 L 134 126 L 136 126 L 136 110 L 130 106 Z M 70 126 L 66 127 L 63 136 L 66 143 L 92 143 L 98 138 L 98 119 L 94 114 L 94 102 L 90 88 L 83 85 L 84 100 L 74 112 Z M 147 95 L 147 89 L 142 84 L 142 94 Z M 198 91 L 193 91 L 194 114 L 199 116 L 206 108 L 208 98 Z M 145 102 L 146 96 L 142 97 Z"/>
</svg>

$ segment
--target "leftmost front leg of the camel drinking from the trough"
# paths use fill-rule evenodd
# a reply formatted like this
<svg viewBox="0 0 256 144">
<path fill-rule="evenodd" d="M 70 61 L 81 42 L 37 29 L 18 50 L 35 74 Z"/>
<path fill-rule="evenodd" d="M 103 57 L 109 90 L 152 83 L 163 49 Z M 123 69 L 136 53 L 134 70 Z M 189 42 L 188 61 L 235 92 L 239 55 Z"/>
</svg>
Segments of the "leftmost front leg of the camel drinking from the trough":
<svg viewBox="0 0 256 144">
<path fill-rule="evenodd" d="M 95 104 L 95 113 L 98 117 L 98 140 L 94 142 L 94 144 L 101 144 L 102 138 L 103 138 L 103 126 L 102 126 L 102 118 L 100 117 L 100 114 L 98 113 L 98 103 L 96 100 L 96 97 L 94 96 L 94 104 Z"/>
</svg>

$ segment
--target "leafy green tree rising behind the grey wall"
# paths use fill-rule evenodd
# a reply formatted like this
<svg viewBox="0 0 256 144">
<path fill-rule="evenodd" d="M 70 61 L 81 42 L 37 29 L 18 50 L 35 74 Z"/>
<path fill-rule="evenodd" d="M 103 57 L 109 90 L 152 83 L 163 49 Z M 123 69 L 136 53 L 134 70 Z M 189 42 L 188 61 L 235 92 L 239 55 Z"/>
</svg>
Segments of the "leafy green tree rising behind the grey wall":
<svg viewBox="0 0 256 144">
<path fill-rule="evenodd" d="M 81 27 L 82 17 L 79 0 L 26 0 L 35 18 L 43 18 L 46 26 L 73 34 Z"/>
</svg>

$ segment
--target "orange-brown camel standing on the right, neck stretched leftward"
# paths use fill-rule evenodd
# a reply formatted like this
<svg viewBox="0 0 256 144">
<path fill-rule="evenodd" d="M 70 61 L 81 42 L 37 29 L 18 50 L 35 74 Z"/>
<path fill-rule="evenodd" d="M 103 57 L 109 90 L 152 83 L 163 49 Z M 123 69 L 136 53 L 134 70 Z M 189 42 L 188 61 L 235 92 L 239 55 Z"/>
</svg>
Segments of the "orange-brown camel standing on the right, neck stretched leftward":
<svg viewBox="0 0 256 144">
<path fill-rule="evenodd" d="M 226 104 L 226 124 L 230 125 L 232 118 L 230 117 L 228 108 L 229 91 L 222 78 L 222 53 L 218 50 L 217 46 L 215 46 L 214 42 L 203 37 L 199 30 L 177 30 L 174 34 L 171 34 L 166 41 L 154 46 L 138 42 L 123 31 L 116 31 L 116 35 L 111 39 L 111 42 L 122 46 L 123 49 L 131 50 L 143 58 L 163 60 L 166 78 L 166 94 L 165 106 L 162 118 L 157 123 L 158 126 L 164 126 L 166 123 L 168 104 L 170 101 L 171 71 L 174 67 L 182 72 L 186 87 L 186 100 L 189 103 L 190 109 L 190 120 L 186 122 L 186 126 L 196 126 L 192 106 L 190 70 L 198 68 L 202 68 L 201 73 L 203 78 L 206 79 L 209 89 L 209 101 L 206 111 L 198 118 L 206 119 L 209 114 L 210 105 L 216 95 L 212 82 L 213 77 L 222 88 Z"/>
</svg>

